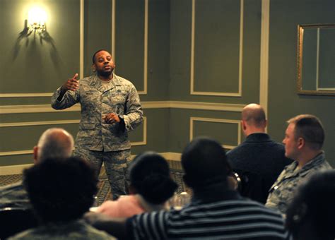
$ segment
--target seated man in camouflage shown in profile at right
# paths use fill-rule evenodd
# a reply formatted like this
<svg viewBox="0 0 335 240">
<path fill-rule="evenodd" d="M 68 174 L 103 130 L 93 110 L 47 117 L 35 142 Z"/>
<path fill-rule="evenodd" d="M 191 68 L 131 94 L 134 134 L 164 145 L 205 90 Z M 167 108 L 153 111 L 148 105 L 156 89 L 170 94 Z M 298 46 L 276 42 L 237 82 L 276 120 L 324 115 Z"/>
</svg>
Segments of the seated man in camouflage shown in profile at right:
<svg viewBox="0 0 335 240">
<path fill-rule="evenodd" d="M 317 171 L 331 169 L 324 157 L 324 128 L 313 115 L 298 115 L 288 120 L 285 155 L 295 160 L 278 176 L 271 186 L 266 207 L 279 210 L 283 215 L 297 187 Z"/>
</svg>

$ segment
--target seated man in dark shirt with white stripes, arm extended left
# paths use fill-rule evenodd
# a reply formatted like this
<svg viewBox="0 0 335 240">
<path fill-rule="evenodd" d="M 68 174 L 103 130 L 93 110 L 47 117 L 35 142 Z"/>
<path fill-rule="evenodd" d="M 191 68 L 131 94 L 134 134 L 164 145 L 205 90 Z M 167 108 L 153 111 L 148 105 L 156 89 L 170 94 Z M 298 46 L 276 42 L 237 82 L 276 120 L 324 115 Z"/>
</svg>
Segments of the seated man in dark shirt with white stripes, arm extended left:
<svg viewBox="0 0 335 240">
<path fill-rule="evenodd" d="M 230 166 L 221 144 L 195 138 L 182 153 L 191 203 L 182 210 L 146 212 L 126 219 L 89 213 L 86 220 L 127 239 L 288 239 L 280 214 L 228 187 Z"/>
</svg>

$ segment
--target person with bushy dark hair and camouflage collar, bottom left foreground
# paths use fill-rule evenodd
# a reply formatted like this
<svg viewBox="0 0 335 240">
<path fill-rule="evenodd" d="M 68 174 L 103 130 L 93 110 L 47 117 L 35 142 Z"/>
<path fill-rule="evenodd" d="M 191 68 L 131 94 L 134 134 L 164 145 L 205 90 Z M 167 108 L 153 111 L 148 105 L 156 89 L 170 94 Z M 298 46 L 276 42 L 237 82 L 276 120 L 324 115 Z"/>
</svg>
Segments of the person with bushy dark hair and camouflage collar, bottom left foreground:
<svg viewBox="0 0 335 240">
<path fill-rule="evenodd" d="M 25 169 L 23 177 L 41 225 L 11 239 L 114 239 L 81 220 L 97 191 L 98 179 L 88 162 L 78 157 L 48 158 Z"/>
</svg>

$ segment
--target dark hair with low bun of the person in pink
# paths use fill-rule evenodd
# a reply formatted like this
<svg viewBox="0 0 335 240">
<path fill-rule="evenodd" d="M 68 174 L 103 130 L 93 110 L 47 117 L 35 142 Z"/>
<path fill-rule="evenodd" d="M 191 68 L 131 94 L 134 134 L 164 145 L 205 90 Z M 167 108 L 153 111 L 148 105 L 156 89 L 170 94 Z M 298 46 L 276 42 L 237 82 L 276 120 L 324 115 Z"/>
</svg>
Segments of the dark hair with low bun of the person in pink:
<svg viewBox="0 0 335 240">
<path fill-rule="evenodd" d="M 149 203 L 164 203 L 173 196 L 177 184 L 171 179 L 169 164 L 157 152 L 137 155 L 129 167 L 131 186 Z"/>
</svg>

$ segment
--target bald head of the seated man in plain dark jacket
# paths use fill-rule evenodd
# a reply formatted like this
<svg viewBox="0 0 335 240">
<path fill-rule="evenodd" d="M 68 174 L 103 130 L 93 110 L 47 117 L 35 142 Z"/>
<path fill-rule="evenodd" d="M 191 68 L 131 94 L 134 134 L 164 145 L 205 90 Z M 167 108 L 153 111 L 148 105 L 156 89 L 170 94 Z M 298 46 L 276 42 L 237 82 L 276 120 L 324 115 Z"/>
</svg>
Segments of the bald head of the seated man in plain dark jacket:
<svg viewBox="0 0 335 240">
<path fill-rule="evenodd" d="M 263 107 L 255 103 L 248 104 L 242 110 L 242 121 L 245 121 L 248 126 L 265 128 L 266 117 Z"/>
</svg>

